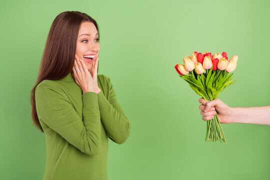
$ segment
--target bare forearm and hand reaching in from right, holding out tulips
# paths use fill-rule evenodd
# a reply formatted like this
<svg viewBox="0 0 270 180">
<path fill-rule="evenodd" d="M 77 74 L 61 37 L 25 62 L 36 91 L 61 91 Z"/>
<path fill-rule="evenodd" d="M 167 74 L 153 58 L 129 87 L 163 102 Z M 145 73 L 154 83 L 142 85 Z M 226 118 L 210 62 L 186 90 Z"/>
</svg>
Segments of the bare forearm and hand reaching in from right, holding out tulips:
<svg viewBox="0 0 270 180">
<path fill-rule="evenodd" d="M 210 120 L 218 113 L 220 123 L 252 123 L 270 125 L 270 105 L 260 107 L 229 107 L 220 99 L 199 99 L 203 120 Z"/>
</svg>

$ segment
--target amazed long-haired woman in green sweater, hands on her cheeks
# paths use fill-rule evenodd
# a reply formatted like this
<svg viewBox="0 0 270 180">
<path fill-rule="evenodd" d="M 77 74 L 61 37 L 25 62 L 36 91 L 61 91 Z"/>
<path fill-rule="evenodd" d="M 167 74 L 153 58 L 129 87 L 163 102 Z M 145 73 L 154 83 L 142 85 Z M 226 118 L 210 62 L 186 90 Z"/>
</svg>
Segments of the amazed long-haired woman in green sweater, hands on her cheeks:
<svg viewBox="0 0 270 180">
<path fill-rule="evenodd" d="M 108 137 L 120 144 L 129 136 L 110 79 L 97 75 L 98 38 L 96 21 L 78 11 L 50 27 L 31 91 L 33 123 L 46 140 L 43 179 L 107 179 Z"/>
</svg>

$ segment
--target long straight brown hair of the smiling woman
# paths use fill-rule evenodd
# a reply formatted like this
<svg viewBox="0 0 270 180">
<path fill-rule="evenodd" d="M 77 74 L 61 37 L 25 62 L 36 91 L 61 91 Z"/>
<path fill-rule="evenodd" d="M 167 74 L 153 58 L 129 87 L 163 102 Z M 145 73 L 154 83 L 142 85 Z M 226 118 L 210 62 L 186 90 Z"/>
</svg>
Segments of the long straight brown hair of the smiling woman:
<svg viewBox="0 0 270 180">
<path fill-rule="evenodd" d="M 65 11 L 53 20 L 42 54 L 38 76 L 31 90 L 33 124 L 44 132 L 37 117 L 35 107 L 35 88 L 45 79 L 56 80 L 65 77 L 74 64 L 77 36 L 80 24 L 84 21 L 92 22 L 98 32 L 96 21 L 86 13 L 79 11 Z"/>
</svg>

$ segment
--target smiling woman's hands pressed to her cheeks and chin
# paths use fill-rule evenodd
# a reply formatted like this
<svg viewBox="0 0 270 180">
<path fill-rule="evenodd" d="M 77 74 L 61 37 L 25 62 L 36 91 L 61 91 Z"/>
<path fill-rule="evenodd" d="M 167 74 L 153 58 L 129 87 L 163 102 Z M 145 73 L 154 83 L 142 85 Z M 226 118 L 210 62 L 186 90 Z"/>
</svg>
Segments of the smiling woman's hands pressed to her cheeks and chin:
<svg viewBox="0 0 270 180">
<path fill-rule="evenodd" d="M 84 62 L 75 55 L 74 66 L 72 67 L 72 76 L 75 79 L 76 84 L 81 88 L 82 93 L 85 92 L 100 92 L 100 88 L 97 85 L 97 64 L 98 58 L 95 58 L 92 68 L 92 74 L 88 71 Z"/>
</svg>

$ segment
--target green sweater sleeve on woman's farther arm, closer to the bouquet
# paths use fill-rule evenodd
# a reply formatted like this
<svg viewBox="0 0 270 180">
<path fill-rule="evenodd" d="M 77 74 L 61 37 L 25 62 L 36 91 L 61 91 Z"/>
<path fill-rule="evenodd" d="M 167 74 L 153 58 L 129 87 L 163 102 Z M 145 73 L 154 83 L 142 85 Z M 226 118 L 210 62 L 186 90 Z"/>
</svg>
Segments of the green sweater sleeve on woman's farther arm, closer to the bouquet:
<svg viewBox="0 0 270 180">
<path fill-rule="evenodd" d="M 116 99 L 116 94 L 108 77 L 109 98 L 103 92 L 97 95 L 101 121 L 110 139 L 121 144 L 126 141 L 130 132 L 130 122 Z"/>
</svg>

